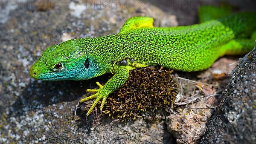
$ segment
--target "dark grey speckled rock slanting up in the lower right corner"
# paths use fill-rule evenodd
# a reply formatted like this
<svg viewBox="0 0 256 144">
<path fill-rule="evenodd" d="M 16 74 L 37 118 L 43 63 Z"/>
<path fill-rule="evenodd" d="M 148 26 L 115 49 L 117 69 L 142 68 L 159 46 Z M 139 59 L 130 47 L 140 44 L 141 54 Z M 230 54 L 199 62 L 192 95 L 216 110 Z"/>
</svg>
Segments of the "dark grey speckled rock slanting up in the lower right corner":
<svg viewBox="0 0 256 144">
<path fill-rule="evenodd" d="M 256 143 L 256 48 L 234 69 L 199 143 Z"/>
</svg>

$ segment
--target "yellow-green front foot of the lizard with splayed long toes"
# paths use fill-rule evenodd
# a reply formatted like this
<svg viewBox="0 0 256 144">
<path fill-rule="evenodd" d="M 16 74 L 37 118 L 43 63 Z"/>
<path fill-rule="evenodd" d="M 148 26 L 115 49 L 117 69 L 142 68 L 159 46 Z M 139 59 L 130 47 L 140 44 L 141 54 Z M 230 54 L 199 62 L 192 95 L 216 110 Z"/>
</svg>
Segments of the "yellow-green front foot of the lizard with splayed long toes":
<svg viewBox="0 0 256 144">
<path fill-rule="evenodd" d="M 90 107 L 90 109 L 88 110 L 88 112 L 86 113 L 86 115 L 88 116 L 92 111 L 93 108 L 96 106 L 96 104 L 99 102 L 99 100 L 102 99 L 101 105 L 100 105 L 100 111 L 102 111 L 103 106 L 105 104 L 106 99 L 108 98 L 108 95 L 105 94 L 105 92 L 103 91 L 103 86 L 101 84 L 99 84 L 99 82 L 96 82 L 96 84 L 99 86 L 99 89 L 87 89 L 87 92 L 93 92 L 95 94 L 88 96 L 86 98 L 83 98 L 80 100 L 80 103 L 83 103 L 85 101 L 88 101 L 90 99 L 96 98 L 96 100 L 93 102 L 93 105 Z"/>
</svg>

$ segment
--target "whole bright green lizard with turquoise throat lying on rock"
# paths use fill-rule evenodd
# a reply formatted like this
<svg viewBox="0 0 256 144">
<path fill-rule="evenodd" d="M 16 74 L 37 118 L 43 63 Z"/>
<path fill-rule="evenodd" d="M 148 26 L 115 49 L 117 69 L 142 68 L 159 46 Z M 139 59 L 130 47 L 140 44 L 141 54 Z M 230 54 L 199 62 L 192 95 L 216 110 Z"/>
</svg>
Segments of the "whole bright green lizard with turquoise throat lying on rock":
<svg viewBox="0 0 256 144">
<path fill-rule="evenodd" d="M 151 17 L 131 17 L 119 34 L 50 46 L 29 74 L 38 80 L 60 81 L 88 80 L 113 73 L 104 86 L 96 82 L 99 89 L 87 89 L 94 95 L 81 99 L 83 103 L 96 98 L 89 115 L 101 99 L 102 110 L 108 95 L 125 84 L 131 69 L 160 65 L 185 72 L 200 71 L 223 55 L 247 53 L 254 45 L 249 38 L 256 29 L 254 20 L 256 14 L 248 12 L 192 26 L 154 28 Z"/>
</svg>

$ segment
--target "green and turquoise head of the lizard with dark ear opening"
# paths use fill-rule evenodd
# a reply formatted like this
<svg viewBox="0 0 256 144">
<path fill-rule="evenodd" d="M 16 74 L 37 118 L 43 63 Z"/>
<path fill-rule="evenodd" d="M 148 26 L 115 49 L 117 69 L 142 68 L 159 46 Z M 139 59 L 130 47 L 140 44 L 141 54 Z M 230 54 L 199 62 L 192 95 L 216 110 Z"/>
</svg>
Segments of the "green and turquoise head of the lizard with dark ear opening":
<svg viewBox="0 0 256 144">
<path fill-rule="evenodd" d="M 29 75 L 42 81 L 86 80 L 96 77 L 97 68 L 79 39 L 73 39 L 47 48 L 31 66 Z"/>
</svg>

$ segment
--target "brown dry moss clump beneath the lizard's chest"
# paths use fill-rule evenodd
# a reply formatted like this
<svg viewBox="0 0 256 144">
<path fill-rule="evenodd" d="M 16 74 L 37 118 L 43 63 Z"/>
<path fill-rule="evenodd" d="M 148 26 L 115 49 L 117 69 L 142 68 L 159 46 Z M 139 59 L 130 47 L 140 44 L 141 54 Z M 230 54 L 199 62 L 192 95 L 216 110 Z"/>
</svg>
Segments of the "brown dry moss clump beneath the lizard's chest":
<svg viewBox="0 0 256 144">
<path fill-rule="evenodd" d="M 134 69 L 125 85 L 108 96 L 102 112 L 120 121 L 135 120 L 143 114 L 153 120 L 161 110 L 172 106 L 176 95 L 177 82 L 172 70 Z"/>
</svg>

